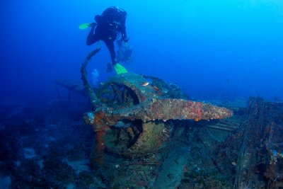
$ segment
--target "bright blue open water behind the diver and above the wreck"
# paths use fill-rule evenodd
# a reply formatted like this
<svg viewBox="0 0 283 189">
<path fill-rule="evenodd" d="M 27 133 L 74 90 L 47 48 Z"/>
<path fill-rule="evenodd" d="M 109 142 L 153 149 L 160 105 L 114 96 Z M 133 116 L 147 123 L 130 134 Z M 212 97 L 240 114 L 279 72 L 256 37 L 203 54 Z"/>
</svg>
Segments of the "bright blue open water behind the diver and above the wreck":
<svg viewBox="0 0 283 189">
<path fill-rule="evenodd" d="M 55 79 L 80 79 L 91 22 L 108 6 L 128 13 L 129 71 L 173 81 L 194 98 L 283 97 L 283 1 L 1 1 L 0 98 L 56 98 Z M 100 79 L 105 45 L 89 69 Z"/>
</svg>

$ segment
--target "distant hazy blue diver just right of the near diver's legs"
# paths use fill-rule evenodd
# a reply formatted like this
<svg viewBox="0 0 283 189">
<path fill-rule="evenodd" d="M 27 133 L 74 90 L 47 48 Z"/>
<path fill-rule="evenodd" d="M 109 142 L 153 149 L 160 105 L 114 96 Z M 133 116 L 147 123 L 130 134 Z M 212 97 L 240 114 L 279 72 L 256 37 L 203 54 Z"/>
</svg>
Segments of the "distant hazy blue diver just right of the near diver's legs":
<svg viewBox="0 0 283 189">
<path fill-rule="evenodd" d="M 117 45 L 119 49 L 117 50 L 117 61 L 118 62 L 129 62 L 132 61 L 133 50 L 127 42 L 124 42 L 122 39 L 117 40 Z"/>
</svg>

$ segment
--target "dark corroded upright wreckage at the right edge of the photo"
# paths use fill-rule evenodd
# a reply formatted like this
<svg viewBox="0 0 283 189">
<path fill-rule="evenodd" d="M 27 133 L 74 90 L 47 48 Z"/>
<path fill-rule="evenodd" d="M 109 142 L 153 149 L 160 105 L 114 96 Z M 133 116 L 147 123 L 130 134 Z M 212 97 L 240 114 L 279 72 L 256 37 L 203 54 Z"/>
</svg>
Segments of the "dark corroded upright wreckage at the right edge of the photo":
<svg viewBox="0 0 283 189">
<path fill-rule="evenodd" d="M 250 98 L 241 137 L 234 188 L 282 188 L 283 103 Z M 259 179 L 260 178 L 260 179 Z M 255 184 L 256 183 L 256 184 Z"/>
</svg>

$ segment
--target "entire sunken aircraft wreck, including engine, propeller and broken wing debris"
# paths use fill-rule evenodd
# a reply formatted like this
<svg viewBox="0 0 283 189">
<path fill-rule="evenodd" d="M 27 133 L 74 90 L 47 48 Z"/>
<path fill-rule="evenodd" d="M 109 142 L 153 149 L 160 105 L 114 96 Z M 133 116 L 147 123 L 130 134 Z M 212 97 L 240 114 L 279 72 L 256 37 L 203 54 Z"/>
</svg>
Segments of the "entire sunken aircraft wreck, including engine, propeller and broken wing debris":
<svg viewBox="0 0 283 189">
<path fill-rule="evenodd" d="M 90 99 L 83 120 L 96 132 L 98 188 L 282 187 L 283 103 L 200 103 L 176 84 L 131 73 L 93 91 L 86 64 L 96 52 L 81 67 L 83 85 L 58 83 Z"/>
</svg>

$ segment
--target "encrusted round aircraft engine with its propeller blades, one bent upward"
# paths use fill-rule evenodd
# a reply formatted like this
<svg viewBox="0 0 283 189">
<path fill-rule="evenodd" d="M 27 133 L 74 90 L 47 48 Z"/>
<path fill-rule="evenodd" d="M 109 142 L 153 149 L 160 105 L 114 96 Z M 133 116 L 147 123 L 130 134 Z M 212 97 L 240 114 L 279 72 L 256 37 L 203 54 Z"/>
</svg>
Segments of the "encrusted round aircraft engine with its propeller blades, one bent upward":
<svg viewBox="0 0 283 189">
<path fill-rule="evenodd" d="M 86 64 L 98 51 L 91 52 L 81 67 L 81 79 L 93 105 L 84 120 L 97 134 L 96 163 L 103 162 L 105 149 L 123 156 L 158 149 L 170 140 L 173 125 L 168 120 L 212 120 L 232 115 L 226 108 L 181 99 L 174 84 L 132 73 L 113 77 L 94 93 L 86 79 Z"/>
</svg>

